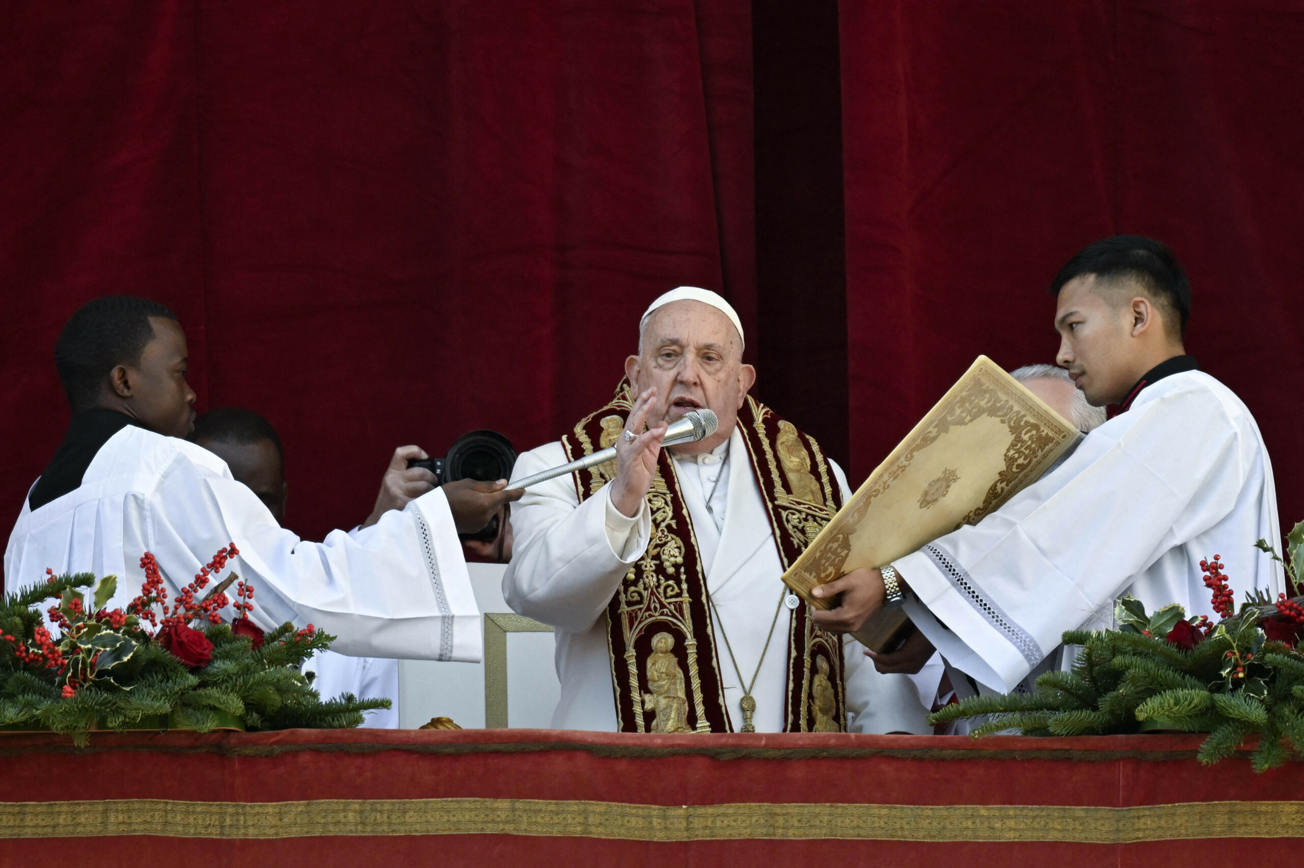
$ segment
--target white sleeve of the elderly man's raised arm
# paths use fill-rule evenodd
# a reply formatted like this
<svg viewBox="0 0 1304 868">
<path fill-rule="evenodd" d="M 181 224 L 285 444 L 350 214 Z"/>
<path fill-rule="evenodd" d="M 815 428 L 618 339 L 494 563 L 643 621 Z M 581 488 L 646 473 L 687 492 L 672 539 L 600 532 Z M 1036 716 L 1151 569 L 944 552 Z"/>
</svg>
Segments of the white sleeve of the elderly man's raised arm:
<svg viewBox="0 0 1304 868">
<path fill-rule="evenodd" d="M 553 467 L 553 457 L 565 457 L 559 444 L 523 454 L 512 478 Z M 562 476 L 526 491 L 511 508 L 511 528 L 515 542 L 502 579 L 503 600 L 522 615 L 583 632 L 647 550 L 652 516 L 647 502 L 636 516 L 621 515 L 612 506 L 610 485 L 582 504 L 574 478 Z"/>
</svg>

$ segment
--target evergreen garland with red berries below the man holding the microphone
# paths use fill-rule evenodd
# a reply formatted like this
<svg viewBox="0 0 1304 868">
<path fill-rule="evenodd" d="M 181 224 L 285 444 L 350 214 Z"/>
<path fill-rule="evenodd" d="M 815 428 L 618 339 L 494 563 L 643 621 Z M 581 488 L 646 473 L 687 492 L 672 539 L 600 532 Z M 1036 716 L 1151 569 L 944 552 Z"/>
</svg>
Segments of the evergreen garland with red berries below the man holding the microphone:
<svg viewBox="0 0 1304 868">
<path fill-rule="evenodd" d="M 82 588 L 95 588 L 94 609 Z M 334 636 L 289 623 L 266 636 L 233 632 L 224 623 L 202 632 L 181 626 L 211 643 L 207 661 L 192 666 L 164 648 L 164 631 L 151 636 L 136 614 L 103 611 L 115 588 L 113 576 L 99 583 L 91 573 L 50 576 L 5 598 L 0 729 L 47 729 L 85 747 L 96 729 L 336 729 L 360 726 L 364 712 L 390 708 L 389 700 L 351 693 L 321 700 L 299 666 Z M 57 639 L 37 609 L 47 600 L 59 601 L 51 607 L 65 627 Z M 262 641 L 254 648 L 257 639 Z"/>
</svg>

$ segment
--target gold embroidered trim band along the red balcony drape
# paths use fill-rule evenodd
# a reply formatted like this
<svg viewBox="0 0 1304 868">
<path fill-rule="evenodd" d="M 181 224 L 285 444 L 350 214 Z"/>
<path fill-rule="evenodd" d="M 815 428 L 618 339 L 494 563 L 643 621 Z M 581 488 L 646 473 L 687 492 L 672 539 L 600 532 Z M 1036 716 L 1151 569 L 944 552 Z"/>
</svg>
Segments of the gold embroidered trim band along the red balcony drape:
<svg viewBox="0 0 1304 868">
<path fill-rule="evenodd" d="M 0 803 L 0 838 L 509 834 L 689 842 L 866 839 L 1124 845 L 1304 837 L 1301 802 L 1073 805 L 704 804 L 539 799 Z"/>
</svg>

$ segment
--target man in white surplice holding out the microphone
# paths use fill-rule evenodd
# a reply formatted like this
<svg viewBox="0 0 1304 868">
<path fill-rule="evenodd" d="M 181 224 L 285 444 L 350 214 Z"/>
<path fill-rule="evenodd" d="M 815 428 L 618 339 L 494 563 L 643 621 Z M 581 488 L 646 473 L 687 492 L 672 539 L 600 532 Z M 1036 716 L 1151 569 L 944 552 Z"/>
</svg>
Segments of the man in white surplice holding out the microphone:
<svg viewBox="0 0 1304 868">
<path fill-rule="evenodd" d="M 176 600 L 235 542 L 230 568 L 253 584 L 252 618 L 263 629 L 312 623 L 347 654 L 479 659 L 480 616 L 456 533 L 484 527 L 514 498 L 505 482 L 443 486 L 353 536 L 301 541 L 226 461 L 181 439 L 194 420 L 186 356 L 185 332 L 156 302 L 111 296 L 72 315 L 55 362 L 73 418 L 9 537 L 9 586 L 42 581 L 47 567 L 113 573 L 110 607 L 123 606 L 151 551 Z"/>
</svg>

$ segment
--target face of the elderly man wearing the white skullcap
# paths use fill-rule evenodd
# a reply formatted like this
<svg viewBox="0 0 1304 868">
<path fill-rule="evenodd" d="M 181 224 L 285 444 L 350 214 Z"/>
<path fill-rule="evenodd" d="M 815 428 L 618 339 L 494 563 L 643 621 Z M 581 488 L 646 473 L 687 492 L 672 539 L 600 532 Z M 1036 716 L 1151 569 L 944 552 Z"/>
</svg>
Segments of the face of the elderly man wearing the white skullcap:
<svg viewBox="0 0 1304 868">
<path fill-rule="evenodd" d="M 729 439 L 756 369 L 742 364 L 738 331 L 722 311 L 700 301 L 673 301 L 652 311 L 638 356 L 625 361 L 634 392 L 656 387 L 648 426 L 673 424 L 691 409 L 709 408 L 720 420 L 715 434 L 675 452 L 708 452 Z"/>
</svg>

